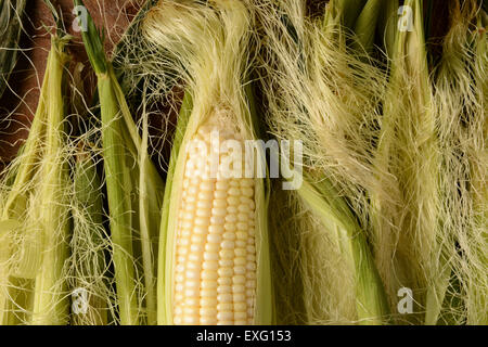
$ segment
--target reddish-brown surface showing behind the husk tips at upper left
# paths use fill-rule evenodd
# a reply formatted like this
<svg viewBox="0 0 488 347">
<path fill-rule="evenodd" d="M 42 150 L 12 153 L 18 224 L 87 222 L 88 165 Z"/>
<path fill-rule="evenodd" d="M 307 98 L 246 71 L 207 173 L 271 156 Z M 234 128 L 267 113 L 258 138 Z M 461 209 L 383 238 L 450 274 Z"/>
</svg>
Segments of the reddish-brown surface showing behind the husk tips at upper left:
<svg viewBox="0 0 488 347">
<path fill-rule="evenodd" d="M 70 69 L 77 62 L 82 62 L 86 90 L 92 90 L 95 78 L 89 66 L 81 36 L 75 33 L 72 26 L 75 20 L 72 13 L 73 0 L 51 2 L 61 10 L 66 31 L 75 37 L 68 46 L 68 50 L 73 52 Z M 103 25 L 105 28 L 105 49 L 111 52 L 114 42 L 119 40 L 144 0 L 85 0 L 84 2 L 97 26 Z M 48 30 L 54 25 L 52 14 L 43 0 L 27 0 L 23 25 L 22 52 L 17 55 L 18 62 L 9 80 L 10 90 L 7 89 L 0 99 L 0 162 L 2 164 L 9 163 L 17 152 L 22 140 L 27 137 L 28 126 L 36 112 L 51 44 Z"/>
</svg>

